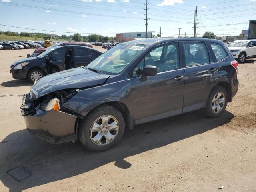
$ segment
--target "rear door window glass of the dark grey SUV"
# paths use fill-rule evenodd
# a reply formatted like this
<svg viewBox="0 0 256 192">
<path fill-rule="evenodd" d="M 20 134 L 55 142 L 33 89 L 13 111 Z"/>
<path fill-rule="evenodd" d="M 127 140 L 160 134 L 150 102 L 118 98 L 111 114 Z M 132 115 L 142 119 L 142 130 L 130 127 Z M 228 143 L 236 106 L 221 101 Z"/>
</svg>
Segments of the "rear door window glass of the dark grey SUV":
<svg viewBox="0 0 256 192">
<path fill-rule="evenodd" d="M 183 48 L 186 67 L 210 63 L 209 53 L 204 43 L 184 42 Z"/>
</svg>

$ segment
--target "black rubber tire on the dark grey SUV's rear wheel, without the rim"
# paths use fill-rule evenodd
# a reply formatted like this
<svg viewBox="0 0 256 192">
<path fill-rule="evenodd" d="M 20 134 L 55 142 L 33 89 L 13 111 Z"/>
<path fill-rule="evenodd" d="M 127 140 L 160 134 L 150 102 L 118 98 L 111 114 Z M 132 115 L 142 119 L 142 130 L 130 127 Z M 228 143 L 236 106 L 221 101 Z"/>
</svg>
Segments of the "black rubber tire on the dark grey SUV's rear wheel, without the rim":
<svg viewBox="0 0 256 192">
<path fill-rule="evenodd" d="M 220 97 L 221 99 L 224 98 L 224 102 L 223 103 L 219 103 L 219 106 L 221 108 L 221 110 L 218 111 L 218 108 L 215 106 L 215 110 L 213 109 L 214 108 L 214 102 L 213 102 L 213 99 L 216 98 L 216 95 L 218 93 L 222 93 L 223 94 L 223 97 Z M 219 101 L 218 101 L 219 102 Z M 208 99 L 207 99 L 207 102 L 206 102 L 206 106 L 203 110 L 204 114 L 210 118 L 216 118 L 218 116 L 220 116 L 226 109 L 226 106 L 228 104 L 228 94 L 227 94 L 227 91 L 225 88 L 221 87 L 221 86 L 215 86 L 209 96 L 208 96 Z M 218 104 L 215 104 L 215 105 L 218 105 Z"/>
</svg>

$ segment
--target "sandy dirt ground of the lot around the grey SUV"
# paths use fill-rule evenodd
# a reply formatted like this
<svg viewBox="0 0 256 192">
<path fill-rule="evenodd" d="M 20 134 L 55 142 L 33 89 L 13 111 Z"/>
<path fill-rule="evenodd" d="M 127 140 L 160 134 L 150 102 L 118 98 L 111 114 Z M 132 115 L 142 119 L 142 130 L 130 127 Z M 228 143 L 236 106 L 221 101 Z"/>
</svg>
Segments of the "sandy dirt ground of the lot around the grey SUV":
<svg viewBox="0 0 256 192">
<path fill-rule="evenodd" d="M 142 124 L 95 153 L 27 132 L 19 107 L 31 84 L 9 68 L 28 53 L 0 51 L 1 192 L 256 191 L 256 59 L 239 65 L 238 93 L 220 118 L 196 111 Z M 17 182 L 6 173 L 16 166 L 32 175 Z"/>
</svg>

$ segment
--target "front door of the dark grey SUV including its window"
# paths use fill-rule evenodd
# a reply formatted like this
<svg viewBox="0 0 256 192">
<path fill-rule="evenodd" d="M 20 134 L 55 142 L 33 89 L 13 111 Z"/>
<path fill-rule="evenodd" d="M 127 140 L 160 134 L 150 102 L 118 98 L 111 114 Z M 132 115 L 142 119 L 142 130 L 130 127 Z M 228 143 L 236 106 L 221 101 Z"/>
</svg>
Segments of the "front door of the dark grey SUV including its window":
<svg viewBox="0 0 256 192">
<path fill-rule="evenodd" d="M 133 70 L 130 99 L 136 124 L 182 113 L 185 74 L 179 54 L 178 43 L 158 46 Z M 142 70 L 147 65 L 156 66 L 158 73 L 142 82 Z"/>
</svg>

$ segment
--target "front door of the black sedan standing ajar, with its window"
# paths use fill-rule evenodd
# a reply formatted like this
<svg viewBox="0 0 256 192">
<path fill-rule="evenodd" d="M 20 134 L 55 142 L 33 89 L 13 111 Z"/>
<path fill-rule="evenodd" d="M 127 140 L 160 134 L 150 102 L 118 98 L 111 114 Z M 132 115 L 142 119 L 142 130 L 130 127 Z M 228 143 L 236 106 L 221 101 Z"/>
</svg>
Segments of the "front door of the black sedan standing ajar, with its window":
<svg viewBox="0 0 256 192">
<path fill-rule="evenodd" d="M 56 49 L 47 61 L 47 71 L 49 74 L 65 70 L 66 48 Z"/>
</svg>

